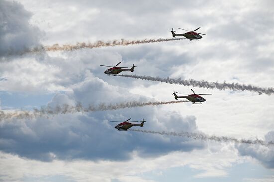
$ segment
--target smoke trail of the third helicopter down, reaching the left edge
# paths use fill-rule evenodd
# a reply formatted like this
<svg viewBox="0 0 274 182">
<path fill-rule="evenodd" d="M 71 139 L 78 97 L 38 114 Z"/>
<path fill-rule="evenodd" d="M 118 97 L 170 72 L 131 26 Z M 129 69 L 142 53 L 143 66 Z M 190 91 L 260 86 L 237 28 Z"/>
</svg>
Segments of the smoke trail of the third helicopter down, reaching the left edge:
<svg viewBox="0 0 274 182">
<path fill-rule="evenodd" d="M 57 114 L 67 114 L 67 113 L 77 113 L 77 112 L 95 112 L 95 111 L 106 111 L 106 110 L 117 110 L 123 108 L 133 108 L 133 107 L 143 107 L 143 106 L 157 106 L 157 105 L 166 105 L 173 103 L 184 103 L 189 101 L 168 101 L 168 102 L 125 102 L 125 103 L 117 103 L 117 104 L 99 104 L 97 106 L 89 105 L 89 107 L 85 108 L 80 103 L 76 106 L 70 106 L 64 104 L 63 106 L 57 107 L 42 107 L 41 109 L 34 109 L 34 111 L 13 111 L 13 112 L 4 112 L 0 110 L 0 121 L 18 118 L 18 119 L 32 119 L 35 117 L 48 117 L 49 115 L 57 115 Z"/>
</svg>

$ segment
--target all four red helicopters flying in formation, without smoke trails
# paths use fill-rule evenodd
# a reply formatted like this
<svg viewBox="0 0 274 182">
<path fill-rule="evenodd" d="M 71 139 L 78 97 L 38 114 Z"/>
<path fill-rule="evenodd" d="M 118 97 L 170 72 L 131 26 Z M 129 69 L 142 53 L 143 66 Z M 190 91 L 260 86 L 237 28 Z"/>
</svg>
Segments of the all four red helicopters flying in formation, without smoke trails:
<svg viewBox="0 0 274 182">
<path fill-rule="evenodd" d="M 193 31 L 189 31 L 189 30 L 185 30 L 182 28 L 179 28 L 181 30 L 185 30 L 187 31 L 186 33 L 181 33 L 181 34 L 175 34 L 172 30 L 170 30 L 170 32 L 172 33 L 172 36 L 175 38 L 176 36 L 184 36 L 185 38 L 189 39 L 190 41 L 198 41 L 198 39 L 203 38 L 201 35 L 206 35 L 203 33 L 198 33 L 195 32 L 198 29 L 200 29 L 201 27 L 193 30 Z M 120 61 L 118 64 L 116 64 L 115 66 L 108 66 L 108 65 L 100 65 L 100 66 L 105 66 L 105 67 L 111 67 L 109 69 L 107 69 L 106 71 L 104 71 L 105 74 L 107 74 L 108 76 L 117 76 L 117 74 L 123 72 L 123 71 L 130 71 L 130 72 L 134 72 L 134 68 L 136 66 L 131 66 L 129 67 L 117 67 L 122 61 Z M 211 95 L 210 93 L 202 93 L 202 94 L 196 94 L 192 89 L 191 91 L 194 94 L 186 94 L 187 96 L 178 96 L 175 92 L 173 91 L 172 95 L 174 95 L 175 100 L 178 100 L 178 98 L 185 98 L 189 101 L 191 101 L 193 104 L 201 104 L 201 102 L 205 102 L 206 99 L 201 97 L 200 95 Z M 180 94 L 184 94 L 184 93 L 180 93 Z M 130 118 L 131 119 L 131 118 Z M 140 126 L 143 127 L 144 123 L 146 122 L 144 119 L 142 121 L 129 121 L 130 119 L 126 120 L 126 121 L 110 121 L 110 122 L 119 122 L 118 125 L 116 125 L 114 128 L 116 128 L 118 131 L 127 131 L 129 128 L 133 127 L 133 126 Z M 135 124 L 136 122 L 141 122 L 140 124 Z"/>
</svg>

